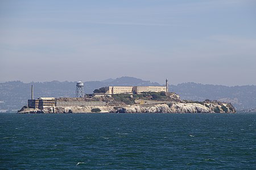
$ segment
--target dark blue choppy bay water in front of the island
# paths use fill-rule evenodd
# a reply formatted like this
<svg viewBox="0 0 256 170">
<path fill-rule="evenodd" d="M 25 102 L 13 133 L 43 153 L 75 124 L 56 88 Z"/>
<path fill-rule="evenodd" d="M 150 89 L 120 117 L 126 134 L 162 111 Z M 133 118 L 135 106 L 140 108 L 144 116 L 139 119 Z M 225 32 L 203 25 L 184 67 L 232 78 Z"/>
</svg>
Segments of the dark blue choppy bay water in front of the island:
<svg viewBox="0 0 256 170">
<path fill-rule="evenodd" d="M 256 113 L 0 114 L 1 169 L 256 169 Z"/>
</svg>

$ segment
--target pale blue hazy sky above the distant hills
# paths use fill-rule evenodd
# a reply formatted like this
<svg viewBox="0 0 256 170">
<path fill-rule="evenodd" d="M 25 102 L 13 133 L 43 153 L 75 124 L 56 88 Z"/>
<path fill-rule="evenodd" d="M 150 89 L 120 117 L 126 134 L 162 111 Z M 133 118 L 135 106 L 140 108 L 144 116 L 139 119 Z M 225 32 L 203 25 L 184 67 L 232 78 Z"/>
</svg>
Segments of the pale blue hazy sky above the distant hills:
<svg viewBox="0 0 256 170">
<path fill-rule="evenodd" d="M 256 1 L 0 1 L 0 82 L 256 85 Z"/>
</svg>

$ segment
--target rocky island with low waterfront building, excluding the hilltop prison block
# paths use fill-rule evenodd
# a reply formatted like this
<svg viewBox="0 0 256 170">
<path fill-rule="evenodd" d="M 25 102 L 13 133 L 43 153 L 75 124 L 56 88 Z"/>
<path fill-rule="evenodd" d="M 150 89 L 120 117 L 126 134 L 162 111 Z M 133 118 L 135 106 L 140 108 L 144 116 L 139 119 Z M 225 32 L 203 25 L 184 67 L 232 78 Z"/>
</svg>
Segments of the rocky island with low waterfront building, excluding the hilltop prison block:
<svg viewBox="0 0 256 170">
<path fill-rule="evenodd" d="M 84 97 L 41 97 L 28 100 L 18 113 L 236 113 L 231 103 L 181 100 L 174 92 L 106 94 Z"/>
</svg>

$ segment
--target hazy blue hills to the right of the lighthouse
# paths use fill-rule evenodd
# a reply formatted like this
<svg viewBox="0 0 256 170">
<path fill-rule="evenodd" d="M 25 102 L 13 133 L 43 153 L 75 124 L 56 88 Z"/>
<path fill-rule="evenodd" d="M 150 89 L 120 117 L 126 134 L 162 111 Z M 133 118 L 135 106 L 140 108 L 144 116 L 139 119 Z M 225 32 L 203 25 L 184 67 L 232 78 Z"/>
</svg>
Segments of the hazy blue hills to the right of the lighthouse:
<svg viewBox="0 0 256 170">
<path fill-rule="evenodd" d="M 170 86 L 170 91 L 181 99 L 203 101 L 205 99 L 232 103 L 238 110 L 256 108 L 256 86 L 220 86 L 199 83 L 181 83 Z"/>
</svg>

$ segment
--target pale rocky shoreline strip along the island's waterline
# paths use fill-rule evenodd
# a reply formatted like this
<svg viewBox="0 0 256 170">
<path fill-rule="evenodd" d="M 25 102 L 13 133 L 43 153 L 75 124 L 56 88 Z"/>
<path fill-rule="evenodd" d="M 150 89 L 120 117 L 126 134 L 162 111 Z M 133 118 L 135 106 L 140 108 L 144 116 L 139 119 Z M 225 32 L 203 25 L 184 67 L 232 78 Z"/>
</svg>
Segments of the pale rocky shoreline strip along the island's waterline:
<svg viewBox="0 0 256 170">
<path fill-rule="evenodd" d="M 95 111 L 96 110 L 96 111 Z M 236 113 L 233 105 L 227 103 L 166 103 L 134 104 L 119 107 L 49 107 L 32 109 L 23 107 L 18 113 Z"/>
</svg>

